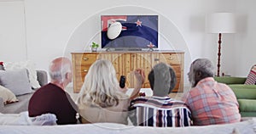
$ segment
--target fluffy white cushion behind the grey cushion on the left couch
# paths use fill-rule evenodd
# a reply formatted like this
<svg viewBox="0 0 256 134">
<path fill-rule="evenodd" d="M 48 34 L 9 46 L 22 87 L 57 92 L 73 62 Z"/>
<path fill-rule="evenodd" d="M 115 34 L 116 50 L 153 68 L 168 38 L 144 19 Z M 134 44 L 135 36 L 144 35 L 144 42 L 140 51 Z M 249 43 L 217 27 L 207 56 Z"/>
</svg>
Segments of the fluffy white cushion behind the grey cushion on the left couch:
<svg viewBox="0 0 256 134">
<path fill-rule="evenodd" d="M 39 88 L 37 71 L 35 70 L 35 65 L 32 61 L 20 61 L 20 62 L 5 62 L 3 64 L 5 70 L 19 70 L 26 68 L 28 70 L 29 82 L 32 88 Z"/>
</svg>

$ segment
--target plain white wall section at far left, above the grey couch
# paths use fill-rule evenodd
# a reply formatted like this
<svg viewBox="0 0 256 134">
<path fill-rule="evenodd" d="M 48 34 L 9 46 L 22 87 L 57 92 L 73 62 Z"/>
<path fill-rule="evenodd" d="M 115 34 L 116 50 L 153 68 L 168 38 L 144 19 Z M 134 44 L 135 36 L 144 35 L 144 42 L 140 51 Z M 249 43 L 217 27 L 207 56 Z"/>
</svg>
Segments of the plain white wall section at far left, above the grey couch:
<svg viewBox="0 0 256 134">
<path fill-rule="evenodd" d="M 26 60 L 23 2 L 0 2 L 0 61 Z"/>
</svg>

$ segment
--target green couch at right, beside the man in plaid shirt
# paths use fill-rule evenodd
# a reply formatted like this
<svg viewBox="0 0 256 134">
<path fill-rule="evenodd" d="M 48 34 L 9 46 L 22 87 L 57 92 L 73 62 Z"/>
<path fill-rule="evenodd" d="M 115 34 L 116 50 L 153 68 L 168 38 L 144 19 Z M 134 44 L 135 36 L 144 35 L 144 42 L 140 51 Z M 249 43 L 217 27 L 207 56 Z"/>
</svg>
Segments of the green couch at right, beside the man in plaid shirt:
<svg viewBox="0 0 256 134">
<path fill-rule="evenodd" d="M 256 117 L 256 85 L 245 85 L 246 77 L 214 77 L 215 81 L 227 84 L 236 94 L 242 117 Z"/>
</svg>

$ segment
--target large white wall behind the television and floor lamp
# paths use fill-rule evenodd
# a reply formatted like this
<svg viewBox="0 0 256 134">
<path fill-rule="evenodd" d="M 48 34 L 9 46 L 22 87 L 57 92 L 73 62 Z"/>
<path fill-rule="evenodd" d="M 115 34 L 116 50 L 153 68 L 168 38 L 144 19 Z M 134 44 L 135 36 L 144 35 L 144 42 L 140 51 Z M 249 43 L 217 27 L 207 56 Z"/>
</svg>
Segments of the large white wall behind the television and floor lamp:
<svg viewBox="0 0 256 134">
<path fill-rule="evenodd" d="M 169 29 L 170 33 L 169 31 L 160 32 L 172 41 L 172 45 L 186 53 L 185 85 L 188 84 L 186 74 L 192 60 L 204 57 L 211 59 L 213 64 L 217 63 L 218 34 L 205 32 L 206 14 L 236 12 L 236 14 L 248 15 L 247 31 L 223 35 L 221 68 L 223 72 L 230 75 L 247 75 L 244 69 L 253 63 L 251 59 L 251 63 L 246 61 L 243 63 L 245 66 L 237 64 L 241 63 L 240 58 L 251 57 L 243 56 L 247 54 L 247 51 L 253 51 L 248 50 L 247 46 L 242 49 L 237 48 L 241 43 L 251 44 L 253 47 L 253 31 L 250 30 L 253 29 L 253 19 L 255 19 L 253 18 L 252 3 L 255 3 L 253 0 L 162 0 L 159 2 L 154 0 L 94 0 L 90 3 L 84 0 L 24 0 L 24 3 L 27 59 L 34 61 L 38 69 L 47 70 L 51 59 L 61 55 L 70 56 L 70 52 L 73 51 L 83 51 L 90 44 L 90 40 L 97 40 L 100 14 L 128 12 L 160 14 L 165 20 L 163 21 L 165 25 L 160 26 L 163 30 Z M 140 10 L 142 8 L 143 10 Z M 166 22 L 170 22 L 171 26 L 164 27 L 168 24 Z M 86 32 L 82 31 L 83 28 L 86 28 Z M 166 46 L 160 44 L 160 47 Z M 234 55 L 234 52 L 239 52 L 239 54 Z"/>
</svg>

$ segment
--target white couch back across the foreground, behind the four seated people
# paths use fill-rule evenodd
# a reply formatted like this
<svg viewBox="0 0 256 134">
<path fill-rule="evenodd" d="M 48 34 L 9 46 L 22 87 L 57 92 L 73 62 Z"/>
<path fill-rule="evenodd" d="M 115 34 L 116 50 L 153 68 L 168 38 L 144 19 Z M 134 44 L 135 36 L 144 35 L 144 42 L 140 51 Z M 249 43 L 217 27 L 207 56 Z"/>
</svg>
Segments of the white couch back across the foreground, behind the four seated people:
<svg viewBox="0 0 256 134">
<path fill-rule="evenodd" d="M 256 119 L 244 120 L 237 123 L 212 126 L 188 127 L 150 127 L 125 126 L 115 123 L 94 123 L 62 126 L 0 126 L 0 133 L 11 134 L 98 134 L 98 133 L 124 133 L 124 134 L 253 134 L 256 132 Z"/>
</svg>

